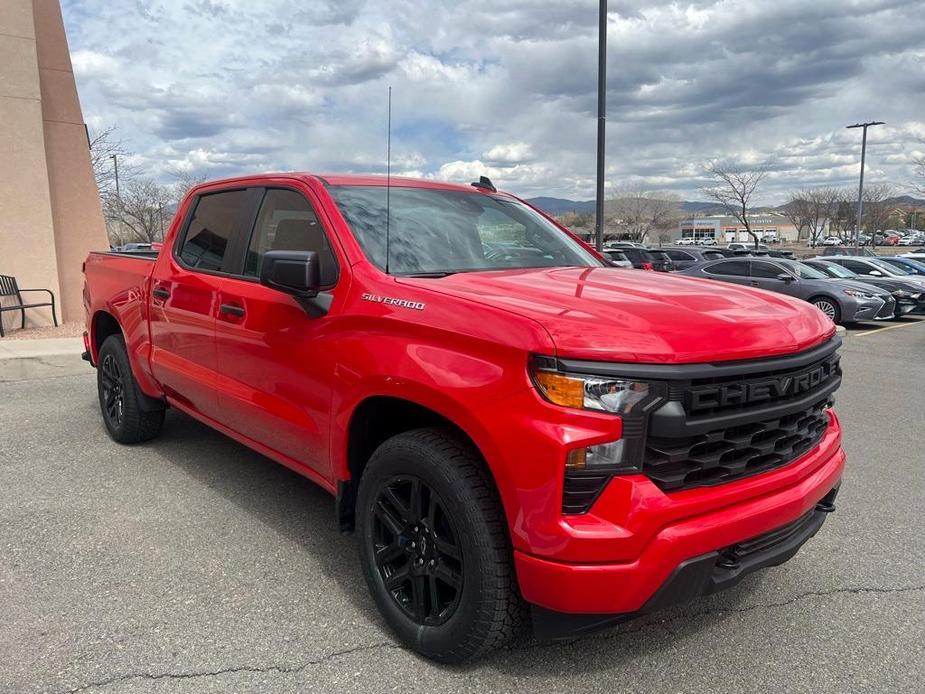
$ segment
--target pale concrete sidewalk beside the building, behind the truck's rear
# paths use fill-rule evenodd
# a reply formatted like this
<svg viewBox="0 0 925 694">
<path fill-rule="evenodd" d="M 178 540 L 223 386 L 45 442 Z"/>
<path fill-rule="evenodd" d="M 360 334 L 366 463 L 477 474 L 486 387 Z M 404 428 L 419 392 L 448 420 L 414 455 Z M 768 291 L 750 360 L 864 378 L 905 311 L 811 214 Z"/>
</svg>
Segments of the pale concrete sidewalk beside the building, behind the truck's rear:
<svg viewBox="0 0 925 694">
<path fill-rule="evenodd" d="M 80 358 L 83 339 L 56 337 L 40 340 L 0 340 L 0 383 L 55 376 L 90 374 Z"/>
</svg>

